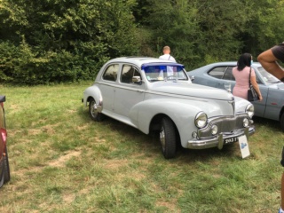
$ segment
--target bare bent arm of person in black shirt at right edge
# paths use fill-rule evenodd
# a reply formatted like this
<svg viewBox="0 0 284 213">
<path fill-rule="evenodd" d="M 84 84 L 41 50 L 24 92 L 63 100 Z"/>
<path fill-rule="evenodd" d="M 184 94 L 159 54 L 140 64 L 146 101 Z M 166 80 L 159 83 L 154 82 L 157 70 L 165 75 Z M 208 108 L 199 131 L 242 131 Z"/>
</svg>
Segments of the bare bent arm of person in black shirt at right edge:
<svg viewBox="0 0 284 213">
<path fill-rule="evenodd" d="M 267 50 L 257 57 L 258 62 L 264 69 L 284 82 L 284 71 L 277 63 L 277 58 L 272 53 L 272 50 Z"/>
</svg>

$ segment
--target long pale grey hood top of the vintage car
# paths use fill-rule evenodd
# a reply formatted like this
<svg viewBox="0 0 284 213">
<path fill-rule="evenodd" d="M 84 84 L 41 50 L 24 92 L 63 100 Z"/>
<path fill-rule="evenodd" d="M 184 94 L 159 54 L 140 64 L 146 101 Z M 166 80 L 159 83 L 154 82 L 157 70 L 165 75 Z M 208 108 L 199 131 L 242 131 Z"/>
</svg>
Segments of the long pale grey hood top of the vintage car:
<svg viewBox="0 0 284 213">
<path fill-rule="evenodd" d="M 153 83 L 151 91 L 203 99 L 233 100 L 229 91 L 187 82 L 156 82 Z"/>
</svg>

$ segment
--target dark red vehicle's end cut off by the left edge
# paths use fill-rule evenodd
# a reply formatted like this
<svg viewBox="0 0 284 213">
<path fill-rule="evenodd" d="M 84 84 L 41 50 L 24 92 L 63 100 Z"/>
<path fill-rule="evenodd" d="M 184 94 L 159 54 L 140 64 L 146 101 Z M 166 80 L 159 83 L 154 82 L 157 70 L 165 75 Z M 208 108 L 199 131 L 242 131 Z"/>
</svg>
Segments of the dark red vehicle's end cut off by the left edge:
<svg viewBox="0 0 284 213">
<path fill-rule="evenodd" d="M 5 96 L 0 96 L 0 187 L 10 180 L 4 102 Z"/>
</svg>

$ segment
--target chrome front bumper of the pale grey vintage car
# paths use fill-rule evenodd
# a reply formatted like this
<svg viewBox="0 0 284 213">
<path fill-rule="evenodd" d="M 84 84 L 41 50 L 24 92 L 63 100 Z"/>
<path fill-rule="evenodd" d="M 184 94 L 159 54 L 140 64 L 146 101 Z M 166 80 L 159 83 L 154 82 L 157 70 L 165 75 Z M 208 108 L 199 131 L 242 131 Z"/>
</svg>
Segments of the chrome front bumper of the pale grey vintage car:
<svg viewBox="0 0 284 213">
<path fill-rule="evenodd" d="M 205 149 L 211 147 L 218 147 L 218 149 L 222 149 L 225 145 L 225 139 L 228 138 L 239 138 L 245 135 L 248 136 L 255 133 L 255 127 L 250 126 L 248 128 L 242 130 L 235 130 L 232 133 L 219 133 L 217 136 L 212 138 L 202 138 L 202 139 L 194 139 L 187 141 L 187 148 L 190 149 Z M 229 143 L 228 143 L 229 144 Z"/>
</svg>

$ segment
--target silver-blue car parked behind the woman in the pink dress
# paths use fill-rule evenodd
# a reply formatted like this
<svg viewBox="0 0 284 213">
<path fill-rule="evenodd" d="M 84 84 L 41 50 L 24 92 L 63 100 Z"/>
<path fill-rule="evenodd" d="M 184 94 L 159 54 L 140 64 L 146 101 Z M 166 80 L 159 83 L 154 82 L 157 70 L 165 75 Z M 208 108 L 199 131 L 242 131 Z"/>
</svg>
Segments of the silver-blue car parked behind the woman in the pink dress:
<svg viewBox="0 0 284 213">
<path fill-rule="evenodd" d="M 189 71 L 193 83 L 227 89 L 233 91 L 235 80 L 232 74 L 237 62 L 218 62 Z M 255 115 L 280 122 L 284 131 L 284 83 L 266 72 L 260 63 L 251 66 L 256 72 L 256 82 L 263 96 L 263 100 L 253 102 Z"/>
</svg>

